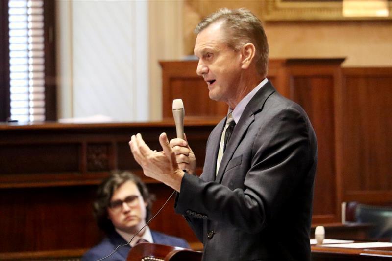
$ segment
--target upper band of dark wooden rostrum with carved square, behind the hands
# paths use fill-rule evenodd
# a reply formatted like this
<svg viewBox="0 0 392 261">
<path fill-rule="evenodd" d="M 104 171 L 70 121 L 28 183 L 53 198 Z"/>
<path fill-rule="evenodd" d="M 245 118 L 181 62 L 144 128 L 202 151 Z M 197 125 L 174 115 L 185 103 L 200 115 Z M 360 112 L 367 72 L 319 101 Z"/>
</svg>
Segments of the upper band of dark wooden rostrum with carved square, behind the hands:
<svg viewBox="0 0 392 261">
<path fill-rule="evenodd" d="M 195 144 L 199 164 L 205 155 L 208 135 L 218 122 L 218 119 L 185 119 L 185 131 Z M 159 134 L 165 131 L 169 137 L 174 137 L 173 126 L 173 120 L 0 124 L 0 158 L 7 161 L 6 165 L 0 165 L 0 189 L 97 185 L 110 170 L 118 168 L 131 170 L 147 184 L 156 184 L 158 182 L 144 176 L 134 162 L 128 142 L 132 134 L 143 133 L 146 142 L 159 150 Z M 26 157 L 21 158 L 24 154 Z M 199 165 L 196 173 L 201 174 L 201 171 L 202 165 Z"/>
</svg>

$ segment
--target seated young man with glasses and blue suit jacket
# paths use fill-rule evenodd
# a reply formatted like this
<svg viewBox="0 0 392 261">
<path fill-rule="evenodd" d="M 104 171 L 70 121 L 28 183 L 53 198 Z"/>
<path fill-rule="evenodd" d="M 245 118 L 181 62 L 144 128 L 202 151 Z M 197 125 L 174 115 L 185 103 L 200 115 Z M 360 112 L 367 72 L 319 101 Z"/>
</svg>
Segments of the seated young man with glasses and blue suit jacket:
<svg viewBox="0 0 392 261">
<path fill-rule="evenodd" d="M 106 237 L 87 251 L 82 260 L 98 260 L 127 244 L 150 218 L 153 196 L 142 180 L 129 172 L 116 172 L 103 181 L 94 202 L 98 227 Z M 104 260 L 126 260 L 131 247 L 141 241 L 189 248 L 184 239 L 152 231 L 146 226 L 126 246 Z"/>
</svg>

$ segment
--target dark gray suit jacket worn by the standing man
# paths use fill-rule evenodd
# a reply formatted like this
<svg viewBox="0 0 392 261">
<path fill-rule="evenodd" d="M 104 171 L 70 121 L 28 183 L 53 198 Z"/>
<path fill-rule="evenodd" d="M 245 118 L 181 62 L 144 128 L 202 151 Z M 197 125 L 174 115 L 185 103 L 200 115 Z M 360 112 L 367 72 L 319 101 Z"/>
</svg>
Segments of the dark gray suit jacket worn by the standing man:
<svg viewBox="0 0 392 261">
<path fill-rule="evenodd" d="M 305 111 L 268 82 L 234 128 L 218 175 L 223 119 L 200 177 L 185 174 L 175 210 L 204 244 L 203 260 L 310 260 L 317 141 Z"/>
</svg>

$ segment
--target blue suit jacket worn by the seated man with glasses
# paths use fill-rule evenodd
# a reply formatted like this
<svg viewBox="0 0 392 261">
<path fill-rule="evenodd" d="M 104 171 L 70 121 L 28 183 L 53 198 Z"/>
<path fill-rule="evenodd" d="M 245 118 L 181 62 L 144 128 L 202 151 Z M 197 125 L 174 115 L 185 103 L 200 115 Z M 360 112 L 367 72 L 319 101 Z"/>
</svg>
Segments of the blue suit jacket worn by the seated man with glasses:
<svg viewBox="0 0 392 261">
<path fill-rule="evenodd" d="M 162 245 L 171 245 L 171 246 L 179 246 L 183 248 L 190 248 L 187 241 L 184 239 L 172 237 L 163 233 L 159 233 L 151 230 L 152 239 L 154 243 L 162 244 Z M 113 250 L 116 249 L 117 246 L 127 244 L 127 242 L 120 236 L 116 231 L 113 231 L 112 234 L 108 235 L 106 238 L 102 239 L 102 241 L 87 251 L 83 257 L 82 261 L 96 261 L 103 257 L 106 257 Z M 116 252 L 113 253 L 108 258 L 105 258 L 104 261 L 123 261 L 126 260 L 131 247 L 129 245 L 121 246 L 117 249 Z"/>
</svg>

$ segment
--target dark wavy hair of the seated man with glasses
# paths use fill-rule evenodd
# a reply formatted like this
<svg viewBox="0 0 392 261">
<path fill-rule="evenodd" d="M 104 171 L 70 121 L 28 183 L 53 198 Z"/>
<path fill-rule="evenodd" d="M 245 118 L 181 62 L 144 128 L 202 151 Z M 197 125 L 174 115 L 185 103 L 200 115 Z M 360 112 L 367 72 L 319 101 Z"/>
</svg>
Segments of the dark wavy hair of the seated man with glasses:
<svg viewBox="0 0 392 261">
<path fill-rule="evenodd" d="M 135 183 L 140 194 L 143 196 L 144 201 L 147 203 L 146 222 L 151 216 L 152 202 L 155 200 L 155 196 L 149 194 L 147 186 L 143 183 L 140 177 L 127 171 L 114 171 L 99 185 L 97 198 L 93 203 L 94 217 L 97 220 L 98 227 L 106 234 L 110 234 L 114 231 L 113 223 L 108 218 L 109 215 L 107 212 L 110 199 L 112 198 L 113 193 L 127 181 Z"/>
</svg>

